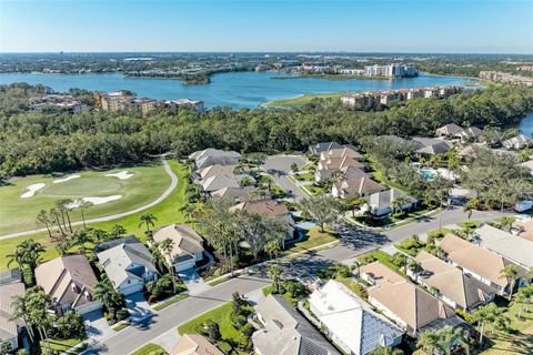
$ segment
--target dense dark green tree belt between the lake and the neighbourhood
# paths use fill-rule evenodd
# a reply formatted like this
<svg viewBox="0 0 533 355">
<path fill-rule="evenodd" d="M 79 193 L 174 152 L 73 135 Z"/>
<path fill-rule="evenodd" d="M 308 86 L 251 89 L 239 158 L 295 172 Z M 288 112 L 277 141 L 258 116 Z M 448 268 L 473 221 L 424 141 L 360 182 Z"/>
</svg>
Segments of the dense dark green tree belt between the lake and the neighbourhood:
<svg viewBox="0 0 533 355">
<path fill-rule="evenodd" d="M 165 151 L 183 156 L 209 146 L 272 152 L 304 150 L 330 140 L 359 145 L 369 135 L 432 135 L 452 122 L 507 126 L 533 111 L 533 90 L 521 87 L 412 100 L 383 112 L 350 111 L 316 101 L 294 110 L 217 108 L 205 114 L 181 110 L 177 115 L 154 112 L 145 118 L 134 112 L 20 112 L 13 110 L 20 98 L 11 91 L 0 87 L 3 176 L 135 162 Z"/>
</svg>

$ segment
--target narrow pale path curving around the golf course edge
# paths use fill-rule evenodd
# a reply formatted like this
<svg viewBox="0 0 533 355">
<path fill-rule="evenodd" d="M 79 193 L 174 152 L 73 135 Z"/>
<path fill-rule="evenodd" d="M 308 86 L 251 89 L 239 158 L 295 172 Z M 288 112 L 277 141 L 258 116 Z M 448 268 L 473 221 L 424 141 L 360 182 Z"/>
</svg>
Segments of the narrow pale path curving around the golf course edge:
<svg viewBox="0 0 533 355">
<path fill-rule="evenodd" d="M 105 216 L 102 216 L 102 217 L 86 220 L 86 224 L 91 224 L 91 223 L 97 223 L 97 222 L 108 222 L 108 221 L 113 221 L 113 220 L 118 220 L 118 219 L 121 219 L 121 217 L 125 217 L 127 215 L 134 214 L 134 213 L 144 211 L 147 209 L 153 207 L 154 205 L 161 203 L 164 199 L 167 199 L 172 193 L 172 191 L 174 191 L 174 189 L 178 186 L 178 176 L 175 176 L 174 172 L 170 168 L 170 165 L 167 162 L 167 159 L 164 156 L 161 156 L 161 162 L 163 163 L 164 171 L 167 172 L 167 174 L 169 174 L 169 176 L 171 179 L 171 182 L 170 182 L 170 186 L 158 199 L 153 200 L 149 204 L 145 204 L 143 206 L 140 206 L 140 207 L 137 207 L 137 209 L 133 209 L 133 210 L 130 210 L 130 211 L 115 213 L 115 214 L 110 214 L 110 215 L 105 215 Z M 82 225 L 82 224 L 83 224 L 83 221 L 72 222 L 72 225 Z M 24 235 L 30 235 L 30 234 L 40 233 L 40 232 L 47 232 L 47 229 L 42 227 L 42 229 L 37 229 L 37 230 L 31 230 L 31 231 L 24 231 L 24 232 L 17 232 L 17 233 L 11 233 L 11 234 L 0 235 L 0 241 L 1 240 L 8 240 L 10 237 L 24 236 Z"/>
</svg>

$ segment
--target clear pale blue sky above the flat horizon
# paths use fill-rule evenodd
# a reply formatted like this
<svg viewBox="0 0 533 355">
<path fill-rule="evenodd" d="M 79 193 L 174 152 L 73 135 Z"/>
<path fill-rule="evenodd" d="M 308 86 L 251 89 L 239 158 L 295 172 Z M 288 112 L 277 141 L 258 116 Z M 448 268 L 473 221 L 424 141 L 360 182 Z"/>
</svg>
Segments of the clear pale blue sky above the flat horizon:
<svg viewBox="0 0 533 355">
<path fill-rule="evenodd" d="M 533 53 L 523 0 L 0 0 L 1 52 Z"/>
</svg>

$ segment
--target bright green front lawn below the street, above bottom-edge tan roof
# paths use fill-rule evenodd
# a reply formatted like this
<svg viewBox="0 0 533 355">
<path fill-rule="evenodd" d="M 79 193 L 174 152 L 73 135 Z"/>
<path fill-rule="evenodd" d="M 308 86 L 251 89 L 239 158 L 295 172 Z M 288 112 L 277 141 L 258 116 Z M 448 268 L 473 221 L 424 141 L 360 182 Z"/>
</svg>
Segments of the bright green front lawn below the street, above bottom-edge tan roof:
<svg viewBox="0 0 533 355">
<path fill-rule="evenodd" d="M 224 339 L 239 341 L 239 331 L 231 324 L 231 314 L 233 313 L 233 306 L 231 302 L 224 303 L 222 306 L 214 308 L 201 316 L 189 321 L 178 327 L 178 332 L 183 335 L 187 333 L 199 333 L 199 328 L 203 326 L 208 321 L 213 321 L 219 325 L 220 334 Z"/>
</svg>

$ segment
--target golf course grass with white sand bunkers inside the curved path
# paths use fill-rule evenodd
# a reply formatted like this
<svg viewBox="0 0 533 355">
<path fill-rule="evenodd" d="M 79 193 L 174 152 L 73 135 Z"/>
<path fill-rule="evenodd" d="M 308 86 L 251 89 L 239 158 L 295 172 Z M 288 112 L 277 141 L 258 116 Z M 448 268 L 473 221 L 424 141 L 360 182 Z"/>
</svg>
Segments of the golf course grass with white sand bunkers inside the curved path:
<svg viewBox="0 0 533 355">
<path fill-rule="evenodd" d="M 114 176 L 105 176 L 109 173 L 128 171 L 133 176 L 120 180 Z M 53 183 L 66 176 L 81 175 L 81 178 Z M 28 231 L 38 227 L 36 216 L 41 210 L 50 210 L 57 200 L 79 199 L 83 196 L 105 197 L 121 195 L 115 201 L 102 204 L 93 204 L 86 209 L 86 219 L 104 216 L 134 207 L 142 206 L 155 200 L 170 185 L 170 176 L 164 172 L 159 160 L 139 164 L 121 166 L 112 170 L 84 170 L 69 174 L 31 175 L 13 178 L 8 185 L 0 187 L 0 235 L 13 232 Z M 37 191 L 28 199 L 21 195 L 32 184 L 44 183 L 44 187 Z M 150 186 L 150 189 L 147 189 Z M 73 210 L 72 221 L 80 221 L 81 213 Z M 42 227 L 42 226 L 39 226 Z"/>
</svg>

